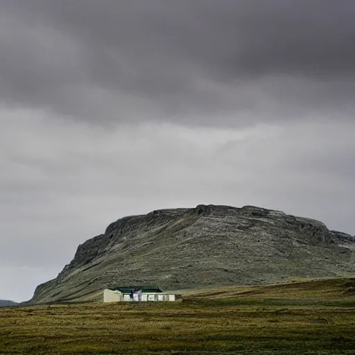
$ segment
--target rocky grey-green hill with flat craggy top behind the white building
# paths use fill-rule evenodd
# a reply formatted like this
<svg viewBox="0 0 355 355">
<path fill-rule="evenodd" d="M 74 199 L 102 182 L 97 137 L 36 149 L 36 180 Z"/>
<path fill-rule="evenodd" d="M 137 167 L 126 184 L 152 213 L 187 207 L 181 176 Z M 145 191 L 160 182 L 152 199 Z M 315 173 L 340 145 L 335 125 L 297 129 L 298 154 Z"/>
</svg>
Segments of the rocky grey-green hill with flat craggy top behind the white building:
<svg viewBox="0 0 355 355">
<path fill-rule="evenodd" d="M 282 211 L 199 205 L 117 220 L 79 245 L 31 302 L 98 299 L 123 284 L 176 290 L 354 273 L 354 236 Z"/>
</svg>

